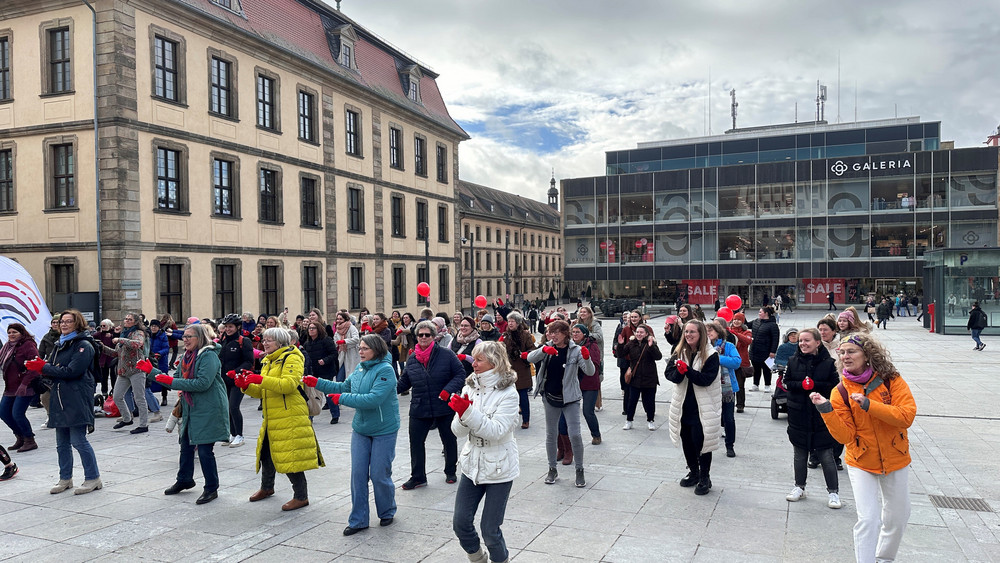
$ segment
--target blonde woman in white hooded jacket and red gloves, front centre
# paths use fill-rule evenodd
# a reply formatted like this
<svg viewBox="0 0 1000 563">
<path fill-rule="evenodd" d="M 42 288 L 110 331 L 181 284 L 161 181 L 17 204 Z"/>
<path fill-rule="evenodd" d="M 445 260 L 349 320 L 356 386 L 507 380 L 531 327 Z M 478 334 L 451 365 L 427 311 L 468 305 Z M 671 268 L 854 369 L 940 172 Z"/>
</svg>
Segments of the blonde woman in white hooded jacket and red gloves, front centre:
<svg viewBox="0 0 1000 563">
<path fill-rule="evenodd" d="M 466 439 L 458 457 L 462 478 L 455 496 L 452 528 L 469 561 L 507 561 L 507 543 L 500 525 L 511 485 L 520 472 L 514 439 L 518 425 L 518 394 L 514 387 L 517 373 L 510 367 L 507 349 L 500 342 L 476 345 L 472 358 L 472 374 L 466 378 L 461 395 L 452 395 L 448 403 L 458 413 L 451 430 L 460 444 Z M 484 496 L 479 525 L 485 550 L 474 524 Z"/>
</svg>

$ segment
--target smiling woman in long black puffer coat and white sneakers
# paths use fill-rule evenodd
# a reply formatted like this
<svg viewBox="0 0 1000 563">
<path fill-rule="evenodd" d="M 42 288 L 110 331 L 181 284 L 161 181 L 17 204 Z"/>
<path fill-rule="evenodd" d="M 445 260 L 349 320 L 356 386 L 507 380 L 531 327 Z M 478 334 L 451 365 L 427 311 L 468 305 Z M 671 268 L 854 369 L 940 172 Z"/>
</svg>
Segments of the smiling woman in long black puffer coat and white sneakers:
<svg viewBox="0 0 1000 563">
<path fill-rule="evenodd" d="M 799 332 L 799 349 L 788 360 L 783 382 L 788 391 L 788 440 L 795 452 L 795 488 L 785 498 L 796 502 L 806 496 L 806 461 L 809 453 L 815 452 L 826 478 L 827 506 L 840 508 L 837 464 L 834 461 L 837 441 L 830 436 L 823 417 L 809 399 L 811 393 L 829 398 L 840 377 L 835 360 L 823 346 L 815 328 Z"/>
</svg>

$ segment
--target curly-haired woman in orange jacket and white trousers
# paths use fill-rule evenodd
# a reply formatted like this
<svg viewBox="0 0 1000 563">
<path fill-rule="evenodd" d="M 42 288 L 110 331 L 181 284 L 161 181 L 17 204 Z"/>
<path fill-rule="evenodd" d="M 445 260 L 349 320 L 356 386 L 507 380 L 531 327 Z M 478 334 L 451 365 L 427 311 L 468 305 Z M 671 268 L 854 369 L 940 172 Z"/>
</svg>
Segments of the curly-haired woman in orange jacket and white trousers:
<svg viewBox="0 0 1000 563">
<path fill-rule="evenodd" d="M 845 461 L 858 512 L 857 560 L 892 561 L 910 518 L 906 429 L 913 424 L 917 405 L 889 352 L 871 335 L 844 338 L 838 367 L 843 379 L 830 400 L 819 393 L 809 398 L 823 414 L 830 434 L 847 449 Z"/>
</svg>

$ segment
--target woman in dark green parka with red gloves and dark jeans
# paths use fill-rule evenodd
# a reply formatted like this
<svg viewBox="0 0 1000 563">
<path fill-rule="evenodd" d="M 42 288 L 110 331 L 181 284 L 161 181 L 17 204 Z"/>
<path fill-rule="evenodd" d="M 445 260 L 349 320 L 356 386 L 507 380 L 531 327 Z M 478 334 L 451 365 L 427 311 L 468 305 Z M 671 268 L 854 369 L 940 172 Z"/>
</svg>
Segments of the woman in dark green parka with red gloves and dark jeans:
<svg viewBox="0 0 1000 563">
<path fill-rule="evenodd" d="M 229 439 L 229 401 L 226 385 L 222 381 L 222 363 L 219 362 L 219 345 L 212 342 L 208 327 L 189 325 L 184 329 L 184 356 L 178 372 L 171 377 L 154 368 L 147 359 L 136 367 L 146 373 L 146 379 L 156 381 L 168 389 L 180 391 L 180 467 L 177 481 L 165 495 L 194 488 L 194 451 L 198 449 L 205 489 L 196 504 L 212 502 L 219 497 L 219 468 L 215 463 L 215 442 Z"/>
</svg>

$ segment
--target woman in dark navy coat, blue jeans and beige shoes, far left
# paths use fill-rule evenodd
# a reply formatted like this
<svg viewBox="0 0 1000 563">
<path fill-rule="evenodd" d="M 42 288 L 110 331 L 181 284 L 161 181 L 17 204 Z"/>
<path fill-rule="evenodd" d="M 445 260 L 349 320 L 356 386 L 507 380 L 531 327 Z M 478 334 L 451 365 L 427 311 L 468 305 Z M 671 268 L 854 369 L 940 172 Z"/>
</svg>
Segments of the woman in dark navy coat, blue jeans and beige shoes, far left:
<svg viewBox="0 0 1000 563">
<path fill-rule="evenodd" d="M 75 448 L 85 480 L 73 493 L 82 495 L 104 486 L 94 448 L 87 441 L 87 430 L 94 425 L 94 340 L 87 335 L 87 321 L 75 309 L 59 315 L 59 333 L 49 357 L 28 360 L 25 367 L 41 372 L 44 381 L 51 384 L 48 427 L 56 430 L 59 482 L 49 492 L 57 494 L 73 488 L 71 448 Z"/>
</svg>

